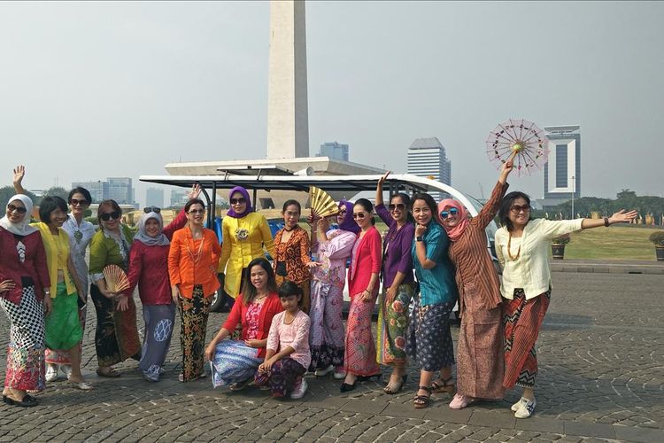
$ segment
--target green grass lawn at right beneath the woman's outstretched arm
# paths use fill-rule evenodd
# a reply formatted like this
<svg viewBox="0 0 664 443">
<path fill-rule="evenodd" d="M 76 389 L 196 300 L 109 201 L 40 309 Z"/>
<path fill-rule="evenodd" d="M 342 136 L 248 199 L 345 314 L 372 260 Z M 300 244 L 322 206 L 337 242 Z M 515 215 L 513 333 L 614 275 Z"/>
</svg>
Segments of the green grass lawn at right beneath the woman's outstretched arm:
<svg viewBox="0 0 664 443">
<path fill-rule="evenodd" d="M 654 245 L 648 240 L 654 229 L 612 226 L 572 234 L 565 246 L 566 259 L 655 260 Z"/>
</svg>

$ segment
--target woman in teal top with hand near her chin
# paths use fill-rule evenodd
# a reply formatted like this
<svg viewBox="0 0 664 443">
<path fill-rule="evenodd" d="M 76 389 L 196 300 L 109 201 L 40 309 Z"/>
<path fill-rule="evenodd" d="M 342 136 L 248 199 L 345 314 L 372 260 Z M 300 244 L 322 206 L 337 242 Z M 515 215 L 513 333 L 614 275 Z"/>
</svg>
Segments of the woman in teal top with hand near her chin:
<svg viewBox="0 0 664 443">
<path fill-rule="evenodd" d="M 454 392 L 452 364 L 454 347 L 450 313 L 457 301 L 454 267 L 448 258 L 450 239 L 436 221 L 436 201 L 429 194 L 413 196 L 415 233 L 411 252 L 420 293 L 408 324 L 406 351 L 420 366 L 420 385 L 415 408 L 427 408 L 431 392 Z M 432 387 L 436 373 L 440 382 Z"/>
</svg>

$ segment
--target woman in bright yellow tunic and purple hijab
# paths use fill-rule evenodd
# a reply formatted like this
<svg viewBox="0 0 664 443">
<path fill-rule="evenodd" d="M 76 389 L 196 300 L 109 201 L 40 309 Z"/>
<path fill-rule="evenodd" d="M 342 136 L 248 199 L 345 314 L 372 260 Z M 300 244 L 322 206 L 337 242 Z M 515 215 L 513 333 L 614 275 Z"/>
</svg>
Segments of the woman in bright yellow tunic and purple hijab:
<svg viewBox="0 0 664 443">
<path fill-rule="evenodd" d="M 221 258 L 219 272 L 225 273 L 224 291 L 233 299 L 240 292 L 247 266 L 253 259 L 265 257 L 264 248 L 272 257 L 274 241 L 264 215 L 251 206 L 249 192 L 236 186 L 228 194 L 230 209 L 221 221 Z M 233 299 L 228 300 L 232 306 Z"/>
</svg>

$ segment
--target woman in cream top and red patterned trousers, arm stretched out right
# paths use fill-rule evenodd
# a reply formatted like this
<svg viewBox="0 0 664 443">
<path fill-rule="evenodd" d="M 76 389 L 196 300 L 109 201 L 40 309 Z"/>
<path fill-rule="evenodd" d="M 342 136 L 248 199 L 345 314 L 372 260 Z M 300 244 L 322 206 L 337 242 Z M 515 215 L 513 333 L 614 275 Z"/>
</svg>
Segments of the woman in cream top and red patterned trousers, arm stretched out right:
<svg viewBox="0 0 664 443">
<path fill-rule="evenodd" d="M 503 227 L 496 232 L 496 254 L 503 268 L 500 285 L 505 327 L 503 387 L 523 388 L 521 399 L 512 405 L 516 418 L 528 418 L 537 405 L 535 343 L 551 300 L 549 245 L 552 238 L 580 229 L 629 222 L 636 217 L 636 211 L 620 211 L 598 220 L 532 220 L 530 198 L 520 191 L 510 192 L 500 203 L 498 218 Z"/>
</svg>

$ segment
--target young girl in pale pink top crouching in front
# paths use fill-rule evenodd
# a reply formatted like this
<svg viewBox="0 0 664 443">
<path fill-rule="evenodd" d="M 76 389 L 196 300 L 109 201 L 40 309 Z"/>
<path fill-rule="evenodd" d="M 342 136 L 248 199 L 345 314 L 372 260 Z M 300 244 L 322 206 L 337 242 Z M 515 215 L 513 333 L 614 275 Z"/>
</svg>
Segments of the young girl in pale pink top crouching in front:
<svg viewBox="0 0 664 443">
<path fill-rule="evenodd" d="M 306 392 L 302 377 L 311 363 L 309 353 L 309 316 L 300 310 L 302 288 L 293 282 L 284 282 L 279 288 L 283 312 L 274 315 L 267 336 L 267 354 L 259 365 L 257 385 L 269 382 L 273 397 L 301 399 Z"/>
</svg>

